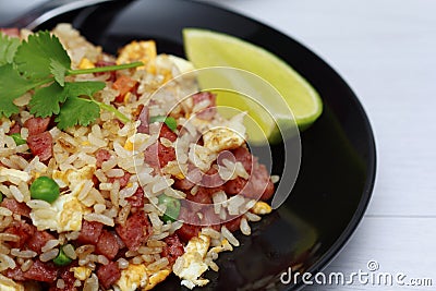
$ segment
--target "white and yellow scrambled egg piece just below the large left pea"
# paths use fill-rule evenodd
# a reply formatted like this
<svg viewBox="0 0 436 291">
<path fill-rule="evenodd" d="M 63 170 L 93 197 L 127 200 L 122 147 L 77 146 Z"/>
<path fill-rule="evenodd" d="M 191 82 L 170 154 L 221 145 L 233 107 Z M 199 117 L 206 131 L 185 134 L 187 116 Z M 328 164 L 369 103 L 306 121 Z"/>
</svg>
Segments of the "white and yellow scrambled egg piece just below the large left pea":
<svg viewBox="0 0 436 291">
<path fill-rule="evenodd" d="M 53 216 L 41 215 L 52 211 Z M 32 209 L 31 218 L 38 230 L 49 229 L 57 232 L 80 231 L 84 207 L 74 194 L 64 194 L 56 199 L 49 209 Z"/>
</svg>

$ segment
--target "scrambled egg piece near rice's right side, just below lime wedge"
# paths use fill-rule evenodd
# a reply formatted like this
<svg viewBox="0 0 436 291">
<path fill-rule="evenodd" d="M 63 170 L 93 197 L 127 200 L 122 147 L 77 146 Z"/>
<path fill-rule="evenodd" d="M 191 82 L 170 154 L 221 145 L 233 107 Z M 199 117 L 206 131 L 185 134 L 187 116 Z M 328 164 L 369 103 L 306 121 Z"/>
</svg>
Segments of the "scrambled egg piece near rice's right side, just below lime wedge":
<svg viewBox="0 0 436 291">
<path fill-rule="evenodd" d="M 234 149 L 245 143 L 244 137 L 228 128 L 214 128 L 203 134 L 204 146 L 215 153 Z"/>
</svg>

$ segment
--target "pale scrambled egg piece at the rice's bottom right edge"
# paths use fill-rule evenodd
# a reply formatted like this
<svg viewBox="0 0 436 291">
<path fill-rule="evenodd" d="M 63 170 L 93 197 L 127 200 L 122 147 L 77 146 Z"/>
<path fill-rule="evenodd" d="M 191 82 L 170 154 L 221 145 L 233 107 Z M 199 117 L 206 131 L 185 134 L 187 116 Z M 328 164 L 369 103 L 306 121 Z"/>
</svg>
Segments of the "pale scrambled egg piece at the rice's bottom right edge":
<svg viewBox="0 0 436 291">
<path fill-rule="evenodd" d="M 175 260 L 173 271 L 182 279 L 182 286 L 193 289 L 195 286 L 205 286 L 209 282 L 201 278 L 208 269 L 204 258 L 209 245 L 210 239 L 204 234 L 192 238 L 185 247 L 185 253 Z"/>
</svg>

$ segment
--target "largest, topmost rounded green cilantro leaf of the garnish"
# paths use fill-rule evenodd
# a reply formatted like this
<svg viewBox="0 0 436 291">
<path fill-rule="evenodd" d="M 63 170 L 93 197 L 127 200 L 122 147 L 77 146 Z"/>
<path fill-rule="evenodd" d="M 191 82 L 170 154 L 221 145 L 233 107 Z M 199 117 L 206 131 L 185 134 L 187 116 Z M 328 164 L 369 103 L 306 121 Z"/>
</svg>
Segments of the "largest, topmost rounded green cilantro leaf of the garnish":
<svg viewBox="0 0 436 291">
<path fill-rule="evenodd" d="M 49 32 L 39 32 L 28 36 L 27 41 L 23 41 L 17 48 L 14 62 L 17 70 L 29 78 L 44 78 L 51 75 L 52 63 L 57 63 L 57 74 L 59 66 L 70 70 L 71 60 L 62 47 L 59 38 L 51 36 Z M 59 76 L 59 75 L 58 75 Z"/>
</svg>

